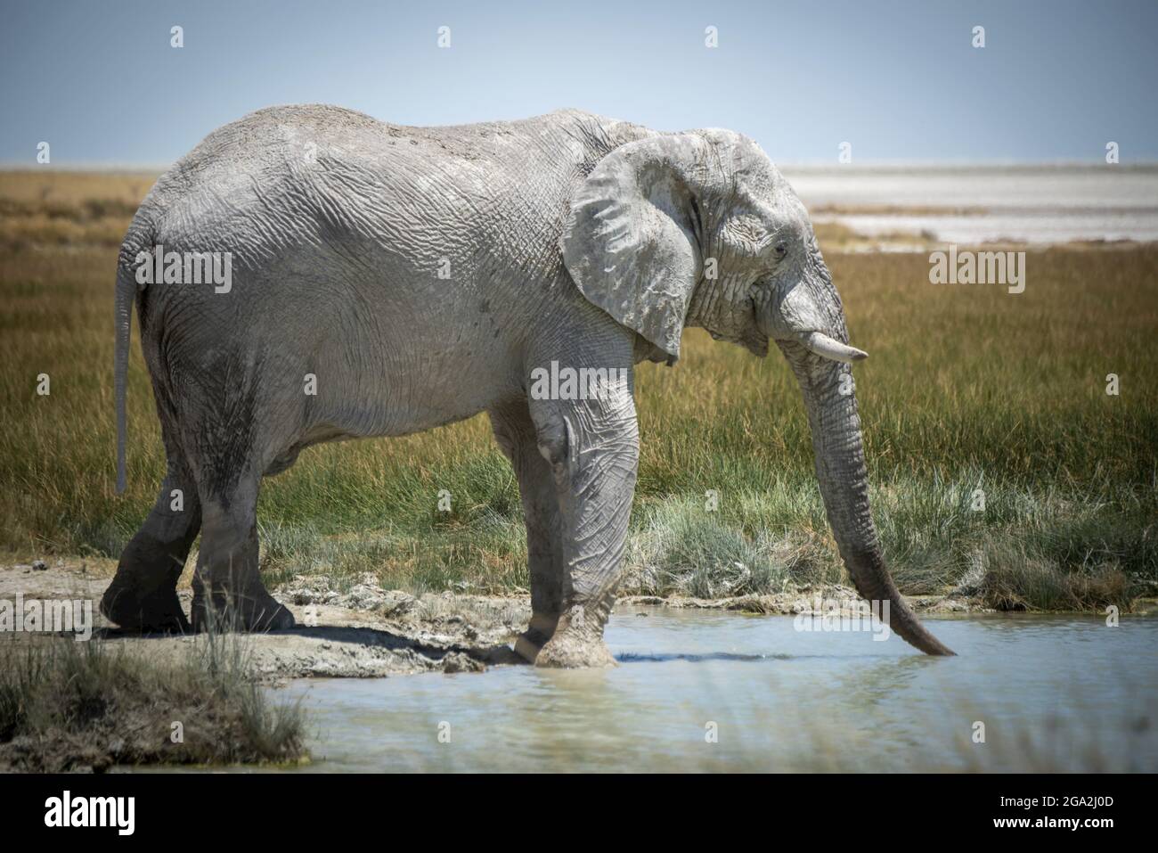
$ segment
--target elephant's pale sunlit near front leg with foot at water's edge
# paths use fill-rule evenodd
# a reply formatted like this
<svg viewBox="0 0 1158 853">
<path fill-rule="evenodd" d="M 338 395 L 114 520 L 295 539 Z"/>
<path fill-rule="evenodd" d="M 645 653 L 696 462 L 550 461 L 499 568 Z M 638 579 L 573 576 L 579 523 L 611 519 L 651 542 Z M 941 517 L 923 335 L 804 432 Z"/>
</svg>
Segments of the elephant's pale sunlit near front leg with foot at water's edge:
<svg viewBox="0 0 1158 853">
<path fill-rule="evenodd" d="M 615 663 L 603 626 L 615 603 L 639 464 L 630 367 L 595 399 L 532 400 L 538 450 L 559 503 L 563 600 L 540 666 Z"/>
</svg>

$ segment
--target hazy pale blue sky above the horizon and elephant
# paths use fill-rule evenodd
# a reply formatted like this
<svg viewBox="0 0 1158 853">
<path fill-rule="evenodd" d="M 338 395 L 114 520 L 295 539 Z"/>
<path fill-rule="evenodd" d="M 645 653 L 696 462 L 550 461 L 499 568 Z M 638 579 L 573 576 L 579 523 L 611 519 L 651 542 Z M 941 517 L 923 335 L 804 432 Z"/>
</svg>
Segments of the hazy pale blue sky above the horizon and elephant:
<svg viewBox="0 0 1158 853">
<path fill-rule="evenodd" d="M 579 107 L 731 127 L 780 162 L 836 162 L 843 141 L 853 162 L 1100 163 L 1111 140 L 1123 163 L 1158 160 L 1158 0 L 555 7 L 3 0 L 0 161 L 34 166 L 44 140 L 53 166 L 162 165 L 251 110 L 306 102 L 400 124 Z"/>
</svg>

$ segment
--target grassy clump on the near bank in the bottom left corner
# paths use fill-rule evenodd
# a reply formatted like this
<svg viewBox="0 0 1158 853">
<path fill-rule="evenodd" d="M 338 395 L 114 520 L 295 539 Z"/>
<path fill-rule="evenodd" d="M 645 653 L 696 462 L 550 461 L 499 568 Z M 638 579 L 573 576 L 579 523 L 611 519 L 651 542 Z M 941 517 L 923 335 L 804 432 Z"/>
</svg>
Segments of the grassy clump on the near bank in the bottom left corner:
<svg viewBox="0 0 1158 853">
<path fill-rule="evenodd" d="M 110 640 L 6 639 L 0 772 L 303 760 L 301 706 L 254 681 L 247 642 L 213 633 L 157 655 Z"/>
</svg>

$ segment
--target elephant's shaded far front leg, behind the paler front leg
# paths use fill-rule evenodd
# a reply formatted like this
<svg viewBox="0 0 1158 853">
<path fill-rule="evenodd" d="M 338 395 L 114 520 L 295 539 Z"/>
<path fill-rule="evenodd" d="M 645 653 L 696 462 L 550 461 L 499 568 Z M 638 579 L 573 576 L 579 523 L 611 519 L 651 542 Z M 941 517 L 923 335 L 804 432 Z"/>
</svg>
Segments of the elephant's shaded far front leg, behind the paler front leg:
<svg viewBox="0 0 1158 853">
<path fill-rule="evenodd" d="M 530 574 L 530 625 L 515 641 L 514 650 L 534 662 L 555 634 L 563 614 L 563 541 L 559 502 L 551 466 L 538 452 L 535 424 L 525 400 L 496 407 L 491 425 L 499 447 L 511 460 L 519 480 L 523 519 L 527 523 L 527 568 Z"/>
</svg>

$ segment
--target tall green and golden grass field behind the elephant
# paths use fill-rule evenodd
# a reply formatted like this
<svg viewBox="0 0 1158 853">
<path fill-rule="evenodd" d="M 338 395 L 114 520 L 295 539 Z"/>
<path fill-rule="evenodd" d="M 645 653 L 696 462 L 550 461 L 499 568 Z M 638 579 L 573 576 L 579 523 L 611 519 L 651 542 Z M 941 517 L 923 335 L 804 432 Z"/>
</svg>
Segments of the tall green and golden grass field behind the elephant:
<svg viewBox="0 0 1158 853">
<path fill-rule="evenodd" d="M 37 216 L 35 204 L 104 221 L 147 185 L 73 178 L 0 175 L 0 198 L 14 199 L 0 205 L 3 227 Z M 163 469 L 134 344 L 130 487 L 113 494 L 116 247 L 60 228 L 21 234 L 0 245 L 0 548 L 115 556 Z M 1158 247 L 1029 251 L 1020 296 L 930 285 L 923 255 L 828 261 L 852 342 L 872 355 L 856 370 L 858 398 L 875 517 L 902 590 L 968 586 L 995 606 L 1065 610 L 1152 593 Z M 684 349 L 674 370 L 638 370 L 628 588 L 719 596 L 841 579 L 783 359 L 695 329 Z M 35 393 L 42 372 L 47 398 Z M 1119 396 L 1105 393 L 1107 373 L 1119 374 Z M 977 488 L 983 512 L 972 509 Z M 441 489 L 450 513 L 437 511 Z M 709 489 L 717 512 L 704 509 Z M 265 482 L 259 523 L 272 583 L 324 570 L 420 589 L 527 584 L 518 489 L 485 417 L 309 450 Z"/>
</svg>

